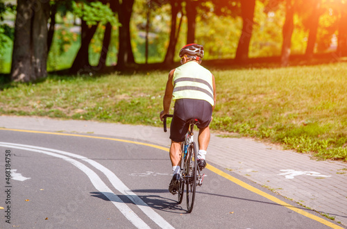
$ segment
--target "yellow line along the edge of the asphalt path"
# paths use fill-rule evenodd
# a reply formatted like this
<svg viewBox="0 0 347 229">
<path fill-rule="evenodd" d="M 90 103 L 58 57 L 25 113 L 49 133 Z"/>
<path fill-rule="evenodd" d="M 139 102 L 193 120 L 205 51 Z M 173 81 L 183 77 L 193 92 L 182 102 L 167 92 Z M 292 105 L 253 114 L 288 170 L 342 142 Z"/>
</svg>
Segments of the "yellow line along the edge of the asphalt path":
<svg viewBox="0 0 347 229">
<path fill-rule="evenodd" d="M 94 139 L 105 139 L 105 140 L 111 140 L 111 141 L 117 141 L 117 142 L 126 142 L 126 143 L 131 143 L 131 144 L 138 144 L 142 146 L 149 146 L 153 147 L 155 149 L 161 149 L 163 151 L 169 151 L 168 148 L 162 147 L 162 146 L 156 146 L 155 144 L 148 144 L 144 142 L 134 142 L 134 141 L 129 141 L 129 140 L 124 140 L 124 139 L 117 139 L 117 138 L 112 138 L 112 137 L 97 137 L 97 136 L 90 136 L 90 135 L 77 135 L 77 134 L 69 134 L 69 133 L 53 133 L 53 132 L 45 132 L 45 131 L 36 131 L 36 130 L 19 130 L 19 129 L 9 129 L 9 128 L 0 128 L 0 130 L 11 130 L 11 131 L 17 131 L 17 132 L 25 132 L 25 133 L 42 133 L 42 134 L 48 134 L 48 135 L 63 135 L 63 136 L 74 136 L 74 137 L 89 137 L 89 138 L 94 138 Z M 315 221 L 318 221 L 319 223 L 323 223 L 326 226 L 329 226 L 330 228 L 334 229 L 344 229 L 341 228 L 340 226 L 337 226 L 334 223 L 331 223 L 330 221 L 327 221 L 325 219 L 322 219 L 321 217 L 316 217 L 314 214 L 310 214 L 308 212 L 305 212 L 304 210 L 301 210 L 298 207 L 294 207 L 293 205 L 290 205 L 289 203 L 285 203 L 285 201 L 281 201 L 279 198 L 276 198 L 275 196 L 271 196 L 270 194 L 267 194 L 266 192 L 262 192 L 260 189 L 257 189 L 251 185 L 248 185 L 247 183 L 244 183 L 242 180 L 239 180 L 233 176 L 230 176 L 228 173 L 225 173 L 221 171 L 220 169 L 217 169 L 216 167 L 213 167 L 210 164 L 206 165 L 206 169 L 209 169 L 210 171 L 217 173 L 219 176 L 222 176 L 223 178 L 226 178 L 233 183 L 248 189 L 251 192 L 254 192 L 255 194 L 258 194 L 260 196 L 263 196 L 270 201 L 273 201 L 275 203 L 278 203 L 282 205 L 283 207 L 287 207 L 290 210 L 297 212 L 298 214 L 302 214 L 303 216 L 313 219 Z"/>
</svg>

